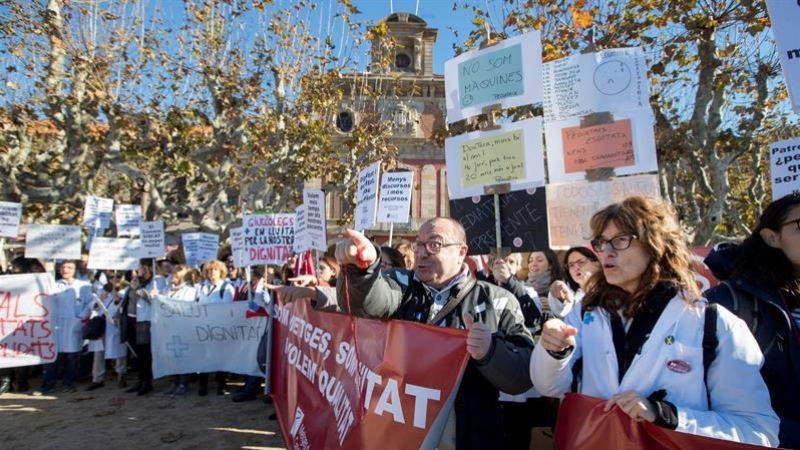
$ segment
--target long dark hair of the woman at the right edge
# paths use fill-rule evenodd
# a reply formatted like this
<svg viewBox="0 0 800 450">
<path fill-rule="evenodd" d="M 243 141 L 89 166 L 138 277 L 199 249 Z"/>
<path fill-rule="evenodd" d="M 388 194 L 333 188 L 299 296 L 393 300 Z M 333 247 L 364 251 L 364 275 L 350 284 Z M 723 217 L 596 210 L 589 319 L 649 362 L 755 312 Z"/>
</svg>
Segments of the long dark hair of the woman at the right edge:
<svg viewBox="0 0 800 450">
<path fill-rule="evenodd" d="M 741 245 L 734 263 L 733 276 L 745 277 L 759 286 L 775 287 L 793 297 L 800 296 L 800 275 L 783 250 L 770 246 L 761 236 L 762 230 L 779 233 L 789 211 L 800 205 L 800 192 L 794 192 L 770 203 L 758 219 L 753 233 Z"/>
</svg>

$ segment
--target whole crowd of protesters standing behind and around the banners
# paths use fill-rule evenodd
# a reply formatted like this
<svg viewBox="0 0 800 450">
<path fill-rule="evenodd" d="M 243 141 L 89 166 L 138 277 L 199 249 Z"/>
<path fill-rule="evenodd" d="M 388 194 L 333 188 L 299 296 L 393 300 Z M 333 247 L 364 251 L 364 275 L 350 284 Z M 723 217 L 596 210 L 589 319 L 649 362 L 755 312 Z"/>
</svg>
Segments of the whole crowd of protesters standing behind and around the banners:
<svg viewBox="0 0 800 450">
<path fill-rule="evenodd" d="M 604 399 L 606 410 L 619 408 L 632 421 L 800 448 L 800 194 L 773 202 L 741 244 L 707 257 L 723 283 L 706 292 L 669 205 L 630 197 L 590 225 L 588 245 L 561 257 L 545 248 L 491 263 L 468 256 L 466 232 L 449 218 L 424 223 L 413 243 L 394 248 L 348 230 L 313 276 L 299 275 L 303 261 L 294 256 L 283 267 L 250 268 L 250 277 L 231 256 L 201 271 L 143 260 L 125 274 L 91 274 L 85 262 L 64 261 L 58 358 L 43 367 L 36 393 L 54 390 L 58 379 L 64 391 L 76 389 L 81 323 L 90 317 L 107 323 L 89 343 L 86 389 L 105 386 L 110 362 L 117 386 L 141 396 L 153 390 L 154 296 L 268 304 L 273 291 L 283 302 L 310 299 L 319 310 L 467 330 L 470 361 L 440 449 L 528 449 L 532 428 L 555 426 L 567 392 Z M 12 269 L 44 271 L 24 258 Z M 127 379 L 131 355 L 135 383 Z M 0 391 L 28 391 L 28 372 L 6 370 Z M 226 394 L 228 374 L 214 375 L 217 394 Z M 207 395 L 209 376 L 174 375 L 162 395 L 188 395 L 195 378 L 197 394 Z M 255 399 L 261 381 L 245 378 L 234 401 Z"/>
</svg>

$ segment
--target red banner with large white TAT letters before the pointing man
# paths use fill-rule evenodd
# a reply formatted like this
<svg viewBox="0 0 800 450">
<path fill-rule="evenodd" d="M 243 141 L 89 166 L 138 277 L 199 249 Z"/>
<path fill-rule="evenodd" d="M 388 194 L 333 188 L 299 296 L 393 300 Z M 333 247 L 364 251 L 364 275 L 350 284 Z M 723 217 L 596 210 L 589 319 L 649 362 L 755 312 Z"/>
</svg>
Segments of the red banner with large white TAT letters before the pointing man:
<svg viewBox="0 0 800 450">
<path fill-rule="evenodd" d="M 463 330 L 276 305 L 272 395 L 287 448 L 435 447 L 465 342 Z"/>
</svg>

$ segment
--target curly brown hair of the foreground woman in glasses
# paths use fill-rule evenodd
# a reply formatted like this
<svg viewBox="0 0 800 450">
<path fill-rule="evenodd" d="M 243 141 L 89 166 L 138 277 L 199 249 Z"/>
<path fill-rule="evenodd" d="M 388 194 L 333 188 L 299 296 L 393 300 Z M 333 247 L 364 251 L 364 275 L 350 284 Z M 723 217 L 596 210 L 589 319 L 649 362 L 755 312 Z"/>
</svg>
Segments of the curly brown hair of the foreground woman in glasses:
<svg viewBox="0 0 800 450">
<path fill-rule="evenodd" d="M 583 300 L 585 308 L 614 312 L 622 307 L 626 317 L 633 317 L 647 295 L 664 282 L 681 292 L 688 303 L 700 298 L 691 252 L 671 205 L 648 197 L 628 197 L 609 205 L 592 216 L 593 238 L 598 238 L 611 222 L 637 236 L 650 253 L 650 264 L 632 293 L 609 284 L 602 271 L 592 275 Z"/>
</svg>

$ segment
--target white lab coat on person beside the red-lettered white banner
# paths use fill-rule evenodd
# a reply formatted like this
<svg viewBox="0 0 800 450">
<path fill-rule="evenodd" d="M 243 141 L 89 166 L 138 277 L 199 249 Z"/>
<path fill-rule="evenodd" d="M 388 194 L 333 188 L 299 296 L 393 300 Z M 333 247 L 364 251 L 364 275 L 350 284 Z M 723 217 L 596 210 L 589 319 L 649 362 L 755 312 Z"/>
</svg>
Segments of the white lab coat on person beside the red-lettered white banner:
<svg viewBox="0 0 800 450">
<path fill-rule="evenodd" d="M 59 353 L 76 353 L 83 348 L 81 321 L 91 313 L 92 285 L 73 279 L 67 284 L 56 282 L 55 317 L 56 349 Z"/>
</svg>

